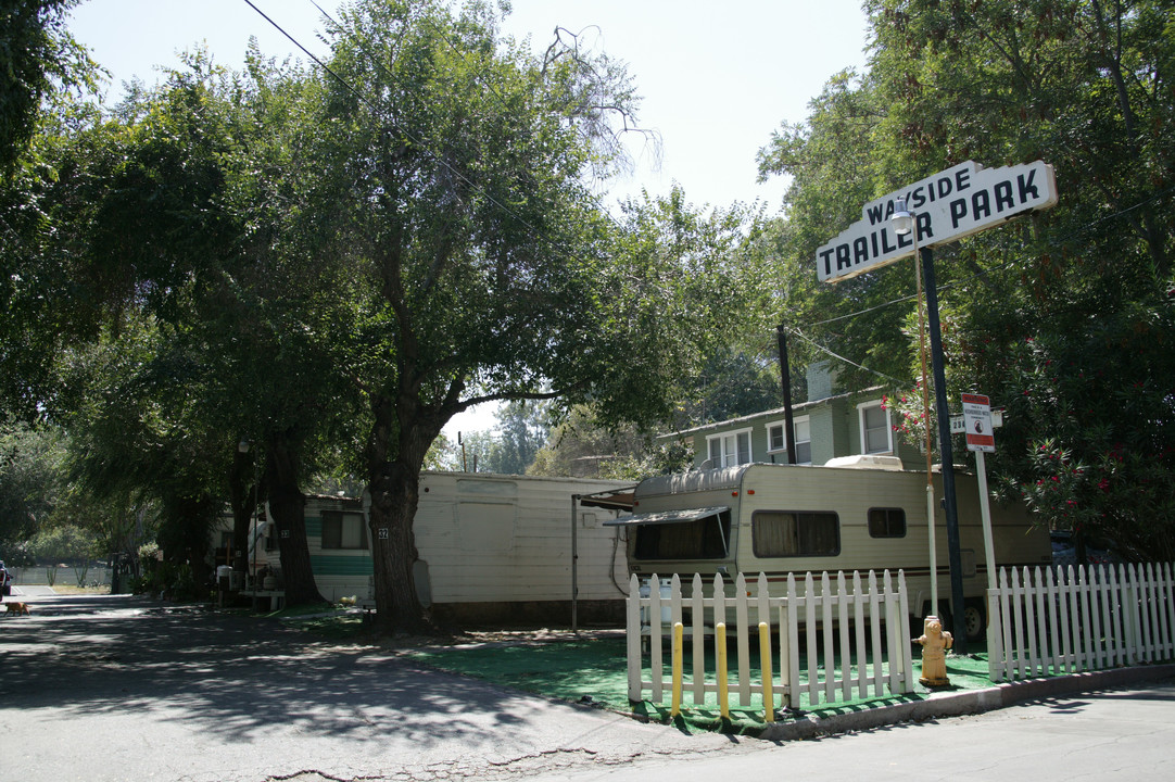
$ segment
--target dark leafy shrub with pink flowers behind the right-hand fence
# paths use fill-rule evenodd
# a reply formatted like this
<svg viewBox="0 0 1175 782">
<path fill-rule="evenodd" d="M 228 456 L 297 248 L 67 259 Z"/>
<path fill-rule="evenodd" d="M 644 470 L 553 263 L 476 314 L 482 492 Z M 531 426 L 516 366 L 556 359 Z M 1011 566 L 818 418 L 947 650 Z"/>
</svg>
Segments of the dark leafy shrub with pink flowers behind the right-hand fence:
<svg viewBox="0 0 1175 782">
<path fill-rule="evenodd" d="M 1175 559 L 1171 305 L 1099 312 L 1047 330 L 1015 318 L 956 326 L 947 309 L 955 412 L 958 392 L 972 390 L 1003 408 L 996 452 L 987 460 L 995 494 L 1025 501 L 1041 523 L 1072 530 L 1077 541 L 1108 542 L 1129 559 Z M 1026 326 L 1034 329 L 1025 333 Z M 916 356 L 915 329 L 907 319 Z M 928 423 L 938 450 L 933 393 L 928 422 L 920 383 L 887 394 L 884 403 L 898 440 L 925 448 Z M 967 461 L 962 437 L 953 445 L 955 462 Z"/>
</svg>

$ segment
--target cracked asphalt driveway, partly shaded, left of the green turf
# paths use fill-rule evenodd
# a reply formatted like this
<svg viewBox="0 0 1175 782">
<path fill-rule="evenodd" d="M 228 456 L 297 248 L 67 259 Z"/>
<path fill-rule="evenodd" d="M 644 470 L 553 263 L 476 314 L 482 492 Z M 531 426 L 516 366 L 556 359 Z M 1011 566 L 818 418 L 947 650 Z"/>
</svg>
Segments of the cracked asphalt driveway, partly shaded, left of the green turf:
<svg viewBox="0 0 1175 782">
<path fill-rule="evenodd" d="M 0 781 L 478 780 L 653 768 L 756 740 L 642 724 L 277 621 L 139 597 L 0 615 Z"/>
</svg>

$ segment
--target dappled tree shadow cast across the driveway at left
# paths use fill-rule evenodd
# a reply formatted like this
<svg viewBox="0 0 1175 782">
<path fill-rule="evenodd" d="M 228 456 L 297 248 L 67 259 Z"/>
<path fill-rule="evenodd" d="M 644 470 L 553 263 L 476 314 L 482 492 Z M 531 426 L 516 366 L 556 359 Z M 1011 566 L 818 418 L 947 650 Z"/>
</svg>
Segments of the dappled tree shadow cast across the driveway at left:
<svg viewBox="0 0 1175 782">
<path fill-rule="evenodd" d="M 511 690 L 320 643 L 274 620 L 122 595 L 29 606 L 32 616 L 0 619 L 4 709 L 157 711 L 237 742 L 275 724 L 325 737 L 395 730 L 427 749 L 481 744 L 486 727 L 524 722 L 529 708 Z"/>
</svg>

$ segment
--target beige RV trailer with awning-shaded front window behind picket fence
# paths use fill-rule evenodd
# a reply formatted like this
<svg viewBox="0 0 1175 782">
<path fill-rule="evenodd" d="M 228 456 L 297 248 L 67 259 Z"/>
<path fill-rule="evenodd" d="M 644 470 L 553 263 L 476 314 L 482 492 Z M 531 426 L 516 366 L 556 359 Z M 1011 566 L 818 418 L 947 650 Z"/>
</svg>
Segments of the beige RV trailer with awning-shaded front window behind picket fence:
<svg viewBox="0 0 1175 782">
<path fill-rule="evenodd" d="M 839 466 L 751 463 L 663 475 L 636 489 L 633 515 L 605 521 L 627 529 L 630 573 L 757 575 L 904 570 L 913 616 L 931 613 L 926 473 L 901 469 L 892 456 L 837 460 Z M 847 462 L 847 463 L 846 463 Z M 941 476 L 934 476 L 941 497 Z M 987 567 L 978 482 L 955 473 L 968 637 L 986 627 Z M 935 520 L 939 610 L 949 615 L 946 514 Z M 1052 561 L 1048 533 L 1022 504 L 992 504 L 998 567 Z M 707 579 L 709 576 L 709 579 Z M 780 593 L 783 589 L 780 589 Z"/>
</svg>

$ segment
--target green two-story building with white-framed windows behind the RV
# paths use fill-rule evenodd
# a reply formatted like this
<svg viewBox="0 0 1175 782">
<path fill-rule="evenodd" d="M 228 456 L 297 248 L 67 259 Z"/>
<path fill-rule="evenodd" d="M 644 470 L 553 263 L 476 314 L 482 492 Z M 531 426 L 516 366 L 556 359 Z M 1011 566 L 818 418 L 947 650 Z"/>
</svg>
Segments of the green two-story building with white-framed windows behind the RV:
<svg viewBox="0 0 1175 782">
<path fill-rule="evenodd" d="M 808 367 L 808 401 L 792 406 L 795 463 L 824 464 L 834 456 L 874 454 L 898 456 L 908 469 L 926 469 L 925 456 L 894 437 L 891 412 L 882 406 L 880 386 L 855 392 L 837 387 L 828 362 Z M 660 443 L 693 446 L 694 469 L 748 462 L 787 462 L 784 408 L 718 421 L 664 434 Z"/>
</svg>

